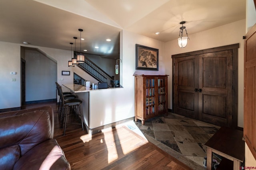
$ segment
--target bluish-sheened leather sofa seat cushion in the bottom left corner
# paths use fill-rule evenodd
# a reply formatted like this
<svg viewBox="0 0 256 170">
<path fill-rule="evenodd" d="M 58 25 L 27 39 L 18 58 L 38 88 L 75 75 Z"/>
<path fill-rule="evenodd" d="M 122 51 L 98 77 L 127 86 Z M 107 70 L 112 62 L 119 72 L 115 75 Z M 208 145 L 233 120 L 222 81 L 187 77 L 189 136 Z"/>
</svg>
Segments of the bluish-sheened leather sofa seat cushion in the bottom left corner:
<svg viewBox="0 0 256 170">
<path fill-rule="evenodd" d="M 0 149 L 0 169 L 12 170 L 14 164 L 20 158 L 20 147 L 19 145 L 12 145 Z"/>
</svg>

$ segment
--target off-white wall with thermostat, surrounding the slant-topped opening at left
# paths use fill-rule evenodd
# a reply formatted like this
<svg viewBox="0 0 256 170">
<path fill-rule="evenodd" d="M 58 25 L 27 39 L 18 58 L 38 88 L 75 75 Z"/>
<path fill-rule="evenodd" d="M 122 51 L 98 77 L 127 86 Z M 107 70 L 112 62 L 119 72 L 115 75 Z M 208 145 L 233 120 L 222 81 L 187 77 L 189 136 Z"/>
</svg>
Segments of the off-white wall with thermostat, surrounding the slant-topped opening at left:
<svg viewBox="0 0 256 170">
<path fill-rule="evenodd" d="M 68 67 L 68 60 L 71 59 L 71 52 L 68 50 L 51 49 L 46 47 L 37 47 L 32 45 L 22 45 L 16 43 L 7 43 L 0 41 L 0 109 L 20 107 L 21 106 L 21 64 L 20 47 L 32 47 L 43 51 L 45 55 L 57 62 L 57 78 L 59 84 L 73 83 L 74 70 L 77 67 Z M 8 61 L 8 63 L 3 62 Z M 62 70 L 70 71 L 70 76 L 62 76 Z M 10 72 L 16 72 L 11 75 Z M 82 75 L 84 76 L 84 75 Z M 16 81 L 12 81 L 16 78 Z M 96 80 L 95 80 L 96 81 Z M 63 89 L 66 91 L 68 89 Z"/>
</svg>

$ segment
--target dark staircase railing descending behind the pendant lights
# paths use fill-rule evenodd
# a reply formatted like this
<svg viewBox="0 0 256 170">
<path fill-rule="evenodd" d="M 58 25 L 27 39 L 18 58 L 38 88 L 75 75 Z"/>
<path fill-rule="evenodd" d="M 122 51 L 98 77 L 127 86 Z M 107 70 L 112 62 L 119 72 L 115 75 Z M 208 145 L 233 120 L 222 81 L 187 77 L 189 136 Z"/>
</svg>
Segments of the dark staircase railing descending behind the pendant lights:
<svg viewBox="0 0 256 170">
<path fill-rule="evenodd" d="M 74 52 L 74 55 L 76 56 L 76 52 Z M 90 61 L 90 59 L 88 59 L 86 56 L 84 56 L 84 60 L 85 62 L 79 63 L 78 67 L 90 74 L 90 76 L 99 82 L 107 82 L 108 87 L 111 87 L 110 80 L 113 80 L 114 76 L 108 75 L 100 67 Z"/>
</svg>

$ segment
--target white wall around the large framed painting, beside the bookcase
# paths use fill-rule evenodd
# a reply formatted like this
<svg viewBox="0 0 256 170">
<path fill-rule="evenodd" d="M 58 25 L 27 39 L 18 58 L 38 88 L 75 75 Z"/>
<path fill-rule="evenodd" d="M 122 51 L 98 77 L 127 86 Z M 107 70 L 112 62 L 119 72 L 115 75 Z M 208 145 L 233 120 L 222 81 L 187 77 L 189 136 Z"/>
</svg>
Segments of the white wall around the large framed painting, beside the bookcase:
<svg viewBox="0 0 256 170">
<path fill-rule="evenodd" d="M 135 69 L 135 44 L 145 45 L 159 49 L 159 71 L 136 70 Z M 164 43 L 143 35 L 138 35 L 128 31 L 120 33 L 120 84 L 124 87 L 125 94 L 123 97 L 126 106 L 129 105 L 127 113 L 134 116 L 134 74 L 165 74 L 164 69 Z M 128 108 L 128 107 L 126 107 Z"/>
</svg>

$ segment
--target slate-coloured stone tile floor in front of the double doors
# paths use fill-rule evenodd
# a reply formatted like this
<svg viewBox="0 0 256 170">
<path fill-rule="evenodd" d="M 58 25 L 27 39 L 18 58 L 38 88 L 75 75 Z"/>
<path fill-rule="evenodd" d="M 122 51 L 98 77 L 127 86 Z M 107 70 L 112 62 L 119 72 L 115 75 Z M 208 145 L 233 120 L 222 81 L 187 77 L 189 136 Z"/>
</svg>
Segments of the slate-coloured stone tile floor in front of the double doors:
<svg viewBox="0 0 256 170">
<path fill-rule="evenodd" d="M 171 149 L 203 166 L 206 147 L 204 144 L 219 126 L 190 119 L 175 113 L 168 113 L 145 121 L 135 122 L 140 131 Z"/>
</svg>

